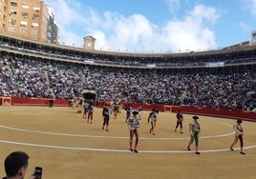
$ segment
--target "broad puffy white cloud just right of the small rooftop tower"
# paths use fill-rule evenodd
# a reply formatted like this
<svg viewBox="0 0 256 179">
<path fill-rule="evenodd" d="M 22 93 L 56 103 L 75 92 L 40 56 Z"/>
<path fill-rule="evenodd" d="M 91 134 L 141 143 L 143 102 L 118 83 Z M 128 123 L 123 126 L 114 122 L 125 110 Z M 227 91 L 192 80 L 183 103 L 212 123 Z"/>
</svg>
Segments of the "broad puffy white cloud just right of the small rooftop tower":
<svg viewBox="0 0 256 179">
<path fill-rule="evenodd" d="M 97 49 L 105 50 L 142 50 L 147 46 L 147 39 L 154 37 L 154 26 L 140 14 L 134 14 L 127 18 L 116 13 L 105 14 L 105 21 L 101 33 L 92 30 L 93 36 L 96 37 Z M 104 31 L 109 32 L 108 35 L 102 35 Z M 96 33 L 94 34 L 94 31 Z M 99 34 L 99 36 L 97 36 Z M 102 39 L 104 38 L 104 39 Z M 104 42 L 104 43 L 101 43 Z"/>
</svg>

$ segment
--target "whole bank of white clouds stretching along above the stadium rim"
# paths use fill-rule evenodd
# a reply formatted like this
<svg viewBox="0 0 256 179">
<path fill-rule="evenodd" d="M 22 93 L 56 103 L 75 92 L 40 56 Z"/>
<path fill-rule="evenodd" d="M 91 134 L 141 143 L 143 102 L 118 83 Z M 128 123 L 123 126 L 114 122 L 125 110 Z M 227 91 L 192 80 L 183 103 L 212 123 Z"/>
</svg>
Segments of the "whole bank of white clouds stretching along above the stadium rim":
<svg viewBox="0 0 256 179">
<path fill-rule="evenodd" d="M 178 0 L 169 2 L 177 4 L 178 8 L 180 6 Z M 125 17 L 105 11 L 100 16 L 92 8 L 79 10 L 78 6 L 74 7 L 65 0 L 56 0 L 51 6 L 66 45 L 75 43 L 80 47 L 82 37 L 90 34 L 96 38 L 96 50 L 177 52 L 217 47 L 214 32 L 207 26 L 213 25 L 219 14 L 214 8 L 203 5 L 194 7 L 182 19 L 169 20 L 161 27 L 141 14 Z M 82 13 L 85 11 L 86 14 Z M 74 30 L 78 28 L 79 34 Z"/>
</svg>

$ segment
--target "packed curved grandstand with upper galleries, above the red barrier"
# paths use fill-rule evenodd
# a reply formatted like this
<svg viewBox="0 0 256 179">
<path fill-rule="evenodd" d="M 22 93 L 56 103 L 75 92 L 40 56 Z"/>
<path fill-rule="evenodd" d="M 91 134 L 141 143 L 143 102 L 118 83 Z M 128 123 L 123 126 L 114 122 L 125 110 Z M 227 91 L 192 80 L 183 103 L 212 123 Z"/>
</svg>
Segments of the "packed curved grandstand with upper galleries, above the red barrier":
<svg viewBox="0 0 256 179">
<path fill-rule="evenodd" d="M 0 96 L 256 109 L 256 46 L 185 53 L 86 51 L 0 36 Z"/>
</svg>

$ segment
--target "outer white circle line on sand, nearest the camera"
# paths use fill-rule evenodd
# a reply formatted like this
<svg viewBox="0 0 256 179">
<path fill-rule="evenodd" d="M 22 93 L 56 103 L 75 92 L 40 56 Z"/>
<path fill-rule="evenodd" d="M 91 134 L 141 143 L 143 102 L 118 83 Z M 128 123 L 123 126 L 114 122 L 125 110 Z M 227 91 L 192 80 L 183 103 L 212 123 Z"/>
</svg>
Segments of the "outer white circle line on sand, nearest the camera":
<svg viewBox="0 0 256 179">
<path fill-rule="evenodd" d="M 61 147 L 61 146 L 51 146 L 51 145 L 40 145 L 32 143 L 21 143 L 14 141 L 0 140 L 0 143 L 22 145 L 22 146 L 32 146 L 38 148 L 51 148 L 51 149 L 75 149 L 75 150 L 91 150 L 91 151 L 112 151 L 112 152 L 131 152 L 129 149 L 95 149 L 95 148 L 75 148 L 75 147 Z M 256 146 L 248 146 L 244 149 L 254 149 Z M 207 149 L 201 150 L 201 152 L 217 152 L 217 151 L 227 151 L 230 149 Z M 188 150 L 139 150 L 141 153 L 188 153 L 193 151 Z"/>
</svg>

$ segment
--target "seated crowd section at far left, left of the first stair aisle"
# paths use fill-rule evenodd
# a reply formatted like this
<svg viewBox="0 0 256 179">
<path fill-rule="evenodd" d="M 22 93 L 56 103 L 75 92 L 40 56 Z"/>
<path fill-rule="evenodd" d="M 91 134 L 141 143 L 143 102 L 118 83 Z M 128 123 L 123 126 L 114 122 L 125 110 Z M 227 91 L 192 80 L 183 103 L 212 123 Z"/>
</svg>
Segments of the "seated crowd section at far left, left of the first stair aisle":
<svg viewBox="0 0 256 179">
<path fill-rule="evenodd" d="M 43 64 L 27 59 L 2 57 L 0 59 L 1 94 L 4 96 L 44 97 L 47 81 Z"/>
</svg>

